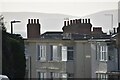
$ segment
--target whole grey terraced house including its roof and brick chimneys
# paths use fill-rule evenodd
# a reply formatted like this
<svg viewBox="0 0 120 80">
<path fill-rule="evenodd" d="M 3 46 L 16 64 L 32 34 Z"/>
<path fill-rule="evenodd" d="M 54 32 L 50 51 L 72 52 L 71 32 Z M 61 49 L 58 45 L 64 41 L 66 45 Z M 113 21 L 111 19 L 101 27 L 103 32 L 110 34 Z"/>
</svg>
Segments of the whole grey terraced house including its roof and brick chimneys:
<svg viewBox="0 0 120 80">
<path fill-rule="evenodd" d="M 116 40 L 90 19 L 64 21 L 63 32 L 40 34 L 40 28 L 39 19 L 28 20 L 28 78 L 118 78 Z"/>
</svg>

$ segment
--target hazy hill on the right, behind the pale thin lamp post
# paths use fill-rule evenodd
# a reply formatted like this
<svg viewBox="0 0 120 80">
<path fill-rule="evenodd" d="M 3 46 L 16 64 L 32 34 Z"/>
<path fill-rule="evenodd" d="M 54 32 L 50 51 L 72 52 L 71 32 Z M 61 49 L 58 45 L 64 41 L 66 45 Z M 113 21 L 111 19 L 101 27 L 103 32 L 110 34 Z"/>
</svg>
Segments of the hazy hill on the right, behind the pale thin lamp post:
<svg viewBox="0 0 120 80">
<path fill-rule="evenodd" d="M 106 14 L 113 14 L 113 27 L 118 27 L 118 10 L 102 11 L 82 18 L 90 18 L 93 27 L 101 26 L 104 32 L 108 32 L 111 28 L 111 16 Z"/>
</svg>

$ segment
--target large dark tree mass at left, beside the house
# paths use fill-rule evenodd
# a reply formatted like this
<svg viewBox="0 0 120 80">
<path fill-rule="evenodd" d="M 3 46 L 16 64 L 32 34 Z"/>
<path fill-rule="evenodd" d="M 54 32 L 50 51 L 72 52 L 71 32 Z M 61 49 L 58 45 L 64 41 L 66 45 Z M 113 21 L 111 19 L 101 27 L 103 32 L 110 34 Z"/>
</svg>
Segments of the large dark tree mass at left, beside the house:
<svg viewBox="0 0 120 80">
<path fill-rule="evenodd" d="M 6 32 L 3 18 L 0 18 L 2 27 L 2 74 L 10 80 L 24 79 L 26 60 L 24 54 L 24 40 L 18 34 Z"/>
</svg>

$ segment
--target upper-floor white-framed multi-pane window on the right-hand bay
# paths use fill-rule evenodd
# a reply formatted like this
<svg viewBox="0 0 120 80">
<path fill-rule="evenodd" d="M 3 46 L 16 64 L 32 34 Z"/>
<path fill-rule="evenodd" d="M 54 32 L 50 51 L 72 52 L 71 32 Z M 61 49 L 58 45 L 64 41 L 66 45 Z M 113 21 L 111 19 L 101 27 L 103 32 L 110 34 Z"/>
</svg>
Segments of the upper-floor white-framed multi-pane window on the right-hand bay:
<svg viewBox="0 0 120 80">
<path fill-rule="evenodd" d="M 100 46 L 100 61 L 107 61 L 107 60 L 108 60 L 108 47 Z"/>
</svg>

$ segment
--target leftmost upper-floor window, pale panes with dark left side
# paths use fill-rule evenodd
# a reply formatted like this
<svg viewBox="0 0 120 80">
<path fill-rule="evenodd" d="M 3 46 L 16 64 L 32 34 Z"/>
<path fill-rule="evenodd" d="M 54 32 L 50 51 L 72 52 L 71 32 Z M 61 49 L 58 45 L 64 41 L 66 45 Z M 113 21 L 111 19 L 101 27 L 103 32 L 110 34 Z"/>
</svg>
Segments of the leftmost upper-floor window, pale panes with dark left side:
<svg viewBox="0 0 120 80">
<path fill-rule="evenodd" d="M 46 46 L 38 45 L 37 49 L 38 49 L 37 60 L 46 60 Z"/>
</svg>

